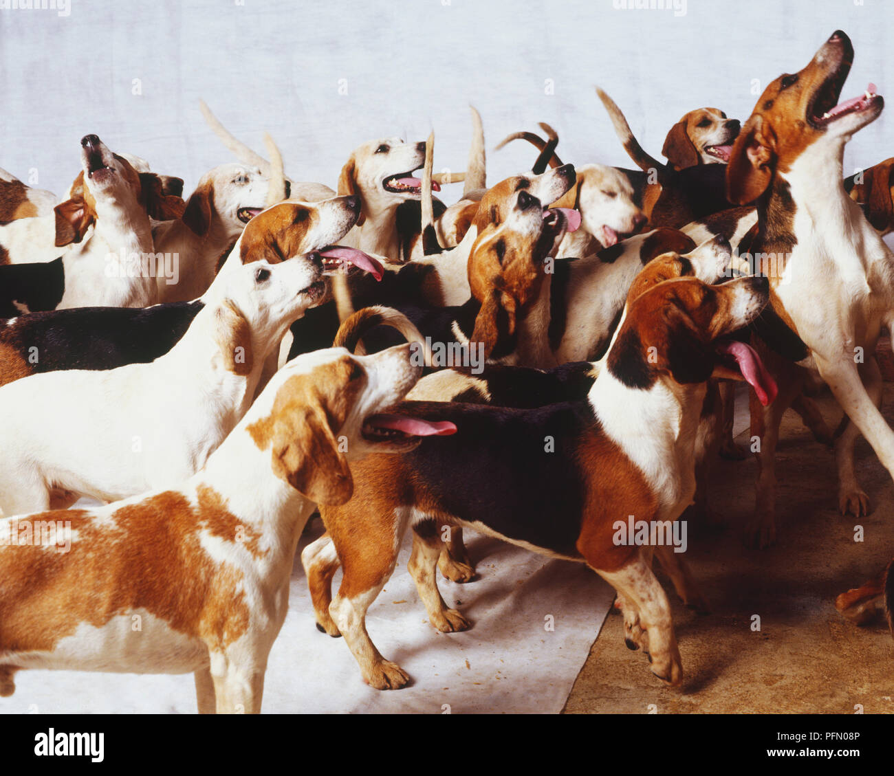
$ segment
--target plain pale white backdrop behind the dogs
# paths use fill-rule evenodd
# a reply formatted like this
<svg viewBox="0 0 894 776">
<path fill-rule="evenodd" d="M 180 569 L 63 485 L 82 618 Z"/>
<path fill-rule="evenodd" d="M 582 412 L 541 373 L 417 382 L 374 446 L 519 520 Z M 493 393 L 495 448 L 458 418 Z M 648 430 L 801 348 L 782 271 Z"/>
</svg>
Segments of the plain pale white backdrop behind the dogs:
<svg viewBox="0 0 894 776">
<path fill-rule="evenodd" d="M 692 108 L 745 119 L 753 80 L 763 89 L 799 69 L 836 28 L 856 47 L 844 97 L 872 80 L 894 98 L 890 0 L 686 0 L 683 15 L 616 9 L 620 0 L 52 0 L 69 4 L 67 16 L 6 7 L 29 2 L 50 0 L 0 0 L 0 167 L 23 179 L 36 170 L 57 194 L 88 132 L 191 190 L 231 161 L 199 97 L 255 148 L 270 131 L 292 178 L 333 187 L 361 142 L 432 128 L 435 168 L 464 169 L 469 103 L 484 118 L 489 181 L 530 167 L 527 144 L 491 149 L 538 121 L 559 131 L 565 161 L 628 165 L 597 83 L 658 156 Z M 846 172 L 894 154 L 892 110 L 851 142 Z"/>
</svg>

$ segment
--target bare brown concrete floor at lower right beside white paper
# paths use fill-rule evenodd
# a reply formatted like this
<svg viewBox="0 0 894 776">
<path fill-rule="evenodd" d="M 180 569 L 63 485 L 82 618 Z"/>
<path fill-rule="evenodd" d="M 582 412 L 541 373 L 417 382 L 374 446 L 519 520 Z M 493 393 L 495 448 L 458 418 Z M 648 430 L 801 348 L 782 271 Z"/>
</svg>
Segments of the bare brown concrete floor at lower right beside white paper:
<svg viewBox="0 0 894 776">
<path fill-rule="evenodd" d="M 819 400 L 834 427 L 840 410 Z M 894 385 L 883 411 L 894 424 Z M 746 443 L 747 433 L 738 437 Z M 688 526 L 687 561 L 711 604 L 699 615 L 671 597 L 684 680 L 664 687 L 644 654 L 624 646 L 611 613 L 578 675 L 564 713 L 894 713 L 894 640 L 883 619 L 857 627 L 835 596 L 872 577 L 894 555 L 894 484 L 861 440 L 857 477 L 872 514 L 842 517 L 831 450 L 789 411 L 777 456 L 777 544 L 748 549 L 743 528 L 755 504 L 755 460 L 719 460 L 711 503 L 722 527 Z M 854 526 L 864 542 L 854 541 Z M 752 631 L 752 616 L 761 618 Z"/>
</svg>

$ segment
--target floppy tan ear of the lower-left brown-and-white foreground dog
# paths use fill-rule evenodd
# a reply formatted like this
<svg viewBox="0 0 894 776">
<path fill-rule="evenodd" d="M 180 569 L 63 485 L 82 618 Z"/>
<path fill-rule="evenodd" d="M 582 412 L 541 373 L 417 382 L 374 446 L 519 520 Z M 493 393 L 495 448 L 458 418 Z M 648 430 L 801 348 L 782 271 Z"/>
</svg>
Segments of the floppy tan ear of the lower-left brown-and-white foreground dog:
<svg viewBox="0 0 894 776">
<path fill-rule="evenodd" d="M 338 506 L 354 493 L 354 481 L 338 449 L 325 411 L 317 404 L 293 405 L 277 423 L 273 470 L 312 502 Z"/>
</svg>

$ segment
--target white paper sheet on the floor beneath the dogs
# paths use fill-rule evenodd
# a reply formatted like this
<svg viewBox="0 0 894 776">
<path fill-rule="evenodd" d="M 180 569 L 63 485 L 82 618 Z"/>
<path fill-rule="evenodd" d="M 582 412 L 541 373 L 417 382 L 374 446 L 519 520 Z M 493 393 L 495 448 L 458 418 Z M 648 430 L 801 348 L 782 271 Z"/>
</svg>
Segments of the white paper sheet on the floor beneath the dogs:
<svg viewBox="0 0 894 776">
<path fill-rule="evenodd" d="M 322 532 L 319 520 L 310 528 L 299 550 Z M 547 559 L 470 531 L 467 537 L 478 577 L 458 585 L 439 574 L 438 586 L 447 604 L 472 621 L 471 629 L 442 634 L 428 624 L 407 572 L 409 536 L 394 575 L 369 609 L 370 637 L 411 677 L 400 690 L 367 687 L 344 639 L 316 629 L 296 556 L 289 613 L 267 664 L 263 711 L 560 712 L 614 591 L 581 563 Z M 195 713 L 196 696 L 191 674 L 19 671 L 15 694 L 0 698 L 0 713 L 27 712 Z"/>
</svg>

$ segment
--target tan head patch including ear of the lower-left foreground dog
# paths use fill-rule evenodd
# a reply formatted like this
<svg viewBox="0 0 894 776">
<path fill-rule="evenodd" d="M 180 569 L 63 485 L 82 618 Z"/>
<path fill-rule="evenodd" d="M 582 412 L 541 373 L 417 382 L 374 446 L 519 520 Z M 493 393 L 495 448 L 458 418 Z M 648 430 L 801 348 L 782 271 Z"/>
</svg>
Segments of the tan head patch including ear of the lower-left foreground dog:
<svg viewBox="0 0 894 776">
<path fill-rule="evenodd" d="M 363 368 L 343 356 L 290 377 L 276 392 L 270 415 L 246 428 L 258 450 L 270 448 L 274 474 L 311 501 L 338 504 L 353 493 L 335 432 L 366 384 Z"/>
</svg>

